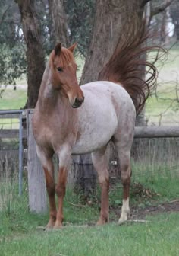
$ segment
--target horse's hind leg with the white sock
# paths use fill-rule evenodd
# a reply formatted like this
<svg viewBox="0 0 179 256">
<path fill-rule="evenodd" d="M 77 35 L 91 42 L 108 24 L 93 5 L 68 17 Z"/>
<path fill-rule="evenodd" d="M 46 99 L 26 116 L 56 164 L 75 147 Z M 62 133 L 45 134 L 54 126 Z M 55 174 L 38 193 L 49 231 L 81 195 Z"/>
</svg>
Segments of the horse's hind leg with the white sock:
<svg viewBox="0 0 179 256">
<path fill-rule="evenodd" d="M 118 157 L 120 161 L 121 168 L 121 181 L 123 184 L 123 201 L 121 208 L 121 217 L 119 223 L 127 220 L 130 213 L 129 207 L 129 194 L 130 194 L 130 148 L 133 141 L 133 136 L 129 136 L 129 139 L 120 139 L 115 141 L 115 146 L 118 151 Z"/>
</svg>

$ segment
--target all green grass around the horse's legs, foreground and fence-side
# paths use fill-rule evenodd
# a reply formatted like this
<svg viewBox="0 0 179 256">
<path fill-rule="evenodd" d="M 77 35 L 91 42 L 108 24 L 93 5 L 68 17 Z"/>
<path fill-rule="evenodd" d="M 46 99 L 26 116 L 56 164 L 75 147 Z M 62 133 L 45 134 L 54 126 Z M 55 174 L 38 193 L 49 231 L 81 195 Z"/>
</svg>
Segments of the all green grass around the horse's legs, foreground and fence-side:
<svg viewBox="0 0 179 256">
<path fill-rule="evenodd" d="M 163 169 L 163 168 L 162 168 Z M 138 171 L 137 171 L 138 170 Z M 140 197 L 131 190 L 130 206 L 145 207 L 151 204 L 179 198 L 179 168 L 172 175 L 166 171 L 142 175 L 143 167 L 133 162 L 133 182 L 143 184 L 155 192 L 155 196 Z M 139 175 L 141 174 L 141 175 Z M 133 187 L 133 186 L 132 186 Z M 94 224 L 99 216 L 99 193 L 89 206 L 68 187 L 64 200 L 64 229 L 58 232 L 42 232 L 48 213 L 29 213 L 27 183 L 24 178 L 23 196 L 18 196 L 17 178 L 6 178 L 0 184 L 0 255 L 178 255 L 178 213 L 146 216 L 145 223 L 127 222 L 118 226 L 121 209 L 121 184 L 110 190 L 111 222 L 102 227 Z M 6 192 L 5 192 L 6 191 Z M 9 191 L 9 193 L 8 193 Z M 149 204 L 150 203 L 150 204 Z M 115 212 L 112 212 L 115 209 Z M 86 225 L 80 227 L 78 225 Z"/>
</svg>

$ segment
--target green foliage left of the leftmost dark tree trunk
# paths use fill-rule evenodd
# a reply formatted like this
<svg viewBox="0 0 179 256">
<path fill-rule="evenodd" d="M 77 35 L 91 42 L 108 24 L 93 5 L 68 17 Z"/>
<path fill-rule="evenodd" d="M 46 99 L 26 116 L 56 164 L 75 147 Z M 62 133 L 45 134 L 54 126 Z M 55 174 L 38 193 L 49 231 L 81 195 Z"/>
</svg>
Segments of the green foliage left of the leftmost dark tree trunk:
<svg viewBox="0 0 179 256">
<path fill-rule="evenodd" d="M 26 72 L 24 43 L 20 36 L 20 15 L 14 1 L 0 2 L 0 84 L 15 85 Z"/>
</svg>

